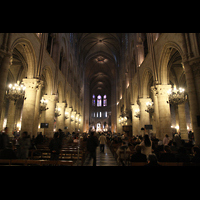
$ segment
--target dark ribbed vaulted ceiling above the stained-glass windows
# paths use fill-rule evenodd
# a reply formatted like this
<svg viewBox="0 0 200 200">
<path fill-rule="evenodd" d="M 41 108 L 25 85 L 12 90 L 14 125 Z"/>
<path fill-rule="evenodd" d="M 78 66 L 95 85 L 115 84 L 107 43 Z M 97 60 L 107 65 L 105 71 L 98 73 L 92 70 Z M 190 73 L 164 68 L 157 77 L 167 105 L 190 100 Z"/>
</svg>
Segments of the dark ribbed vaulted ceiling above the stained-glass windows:
<svg viewBox="0 0 200 200">
<path fill-rule="evenodd" d="M 78 33 L 80 61 L 90 91 L 96 95 L 111 91 L 120 55 L 120 33 Z"/>
</svg>

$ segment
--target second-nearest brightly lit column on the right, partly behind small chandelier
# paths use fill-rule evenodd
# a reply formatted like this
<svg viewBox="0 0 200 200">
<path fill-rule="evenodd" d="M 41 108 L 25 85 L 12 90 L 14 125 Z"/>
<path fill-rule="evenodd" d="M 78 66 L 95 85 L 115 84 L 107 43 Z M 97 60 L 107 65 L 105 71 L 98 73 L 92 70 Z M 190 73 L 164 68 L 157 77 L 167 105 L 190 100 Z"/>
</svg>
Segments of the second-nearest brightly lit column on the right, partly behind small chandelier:
<svg viewBox="0 0 200 200">
<path fill-rule="evenodd" d="M 144 125 L 148 125 L 150 123 L 149 120 L 149 113 L 146 112 L 146 103 L 151 102 L 151 98 L 140 98 L 139 103 L 140 103 L 140 124 L 139 124 L 139 129 L 144 128 Z"/>
</svg>

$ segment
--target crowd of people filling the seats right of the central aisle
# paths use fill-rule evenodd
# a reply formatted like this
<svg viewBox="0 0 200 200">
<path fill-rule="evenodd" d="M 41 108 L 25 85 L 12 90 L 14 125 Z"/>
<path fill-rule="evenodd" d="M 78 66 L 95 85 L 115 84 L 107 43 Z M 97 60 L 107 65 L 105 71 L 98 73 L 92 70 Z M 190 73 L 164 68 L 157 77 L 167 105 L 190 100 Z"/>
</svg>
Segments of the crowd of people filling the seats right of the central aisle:
<svg viewBox="0 0 200 200">
<path fill-rule="evenodd" d="M 187 142 L 181 140 L 179 134 L 173 134 L 170 138 L 167 134 L 162 140 L 153 135 L 136 135 L 131 138 L 126 134 L 115 135 L 110 138 L 112 144 L 121 144 L 116 151 L 119 158 L 120 151 L 134 150 L 131 162 L 148 162 L 148 165 L 159 166 L 159 162 L 193 162 L 200 163 L 200 148 L 193 145 L 192 138 Z M 118 162 L 119 159 L 118 159 Z"/>
</svg>

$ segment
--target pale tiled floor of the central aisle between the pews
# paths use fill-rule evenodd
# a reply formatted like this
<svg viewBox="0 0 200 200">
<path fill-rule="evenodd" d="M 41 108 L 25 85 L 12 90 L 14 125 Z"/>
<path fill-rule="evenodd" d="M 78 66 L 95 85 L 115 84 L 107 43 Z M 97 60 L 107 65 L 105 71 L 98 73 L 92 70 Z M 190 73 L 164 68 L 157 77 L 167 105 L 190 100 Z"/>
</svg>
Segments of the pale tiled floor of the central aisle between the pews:
<svg viewBox="0 0 200 200">
<path fill-rule="evenodd" d="M 92 166 L 93 159 L 90 160 L 89 164 L 87 161 L 89 159 L 89 155 L 83 166 Z M 105 145 L 104 153 L 100 153 L 100 146 L 96 149 L 96 166 L 118 166 L 115 158 L 113 157 L 109 147 Z"/>
</svg>

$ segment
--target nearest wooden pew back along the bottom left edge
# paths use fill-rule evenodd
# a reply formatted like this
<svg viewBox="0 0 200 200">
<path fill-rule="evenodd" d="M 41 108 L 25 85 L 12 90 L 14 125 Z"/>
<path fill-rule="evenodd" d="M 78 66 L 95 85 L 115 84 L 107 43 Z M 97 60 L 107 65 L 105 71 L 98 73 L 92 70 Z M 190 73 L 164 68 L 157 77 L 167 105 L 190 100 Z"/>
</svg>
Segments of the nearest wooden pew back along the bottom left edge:
<svg viewBox="0 0 200 200">
<path fill-rule="evenodd" d="M 73 166 L 70 160 L 0 159 L 0 166 Z"/>
</svg>

